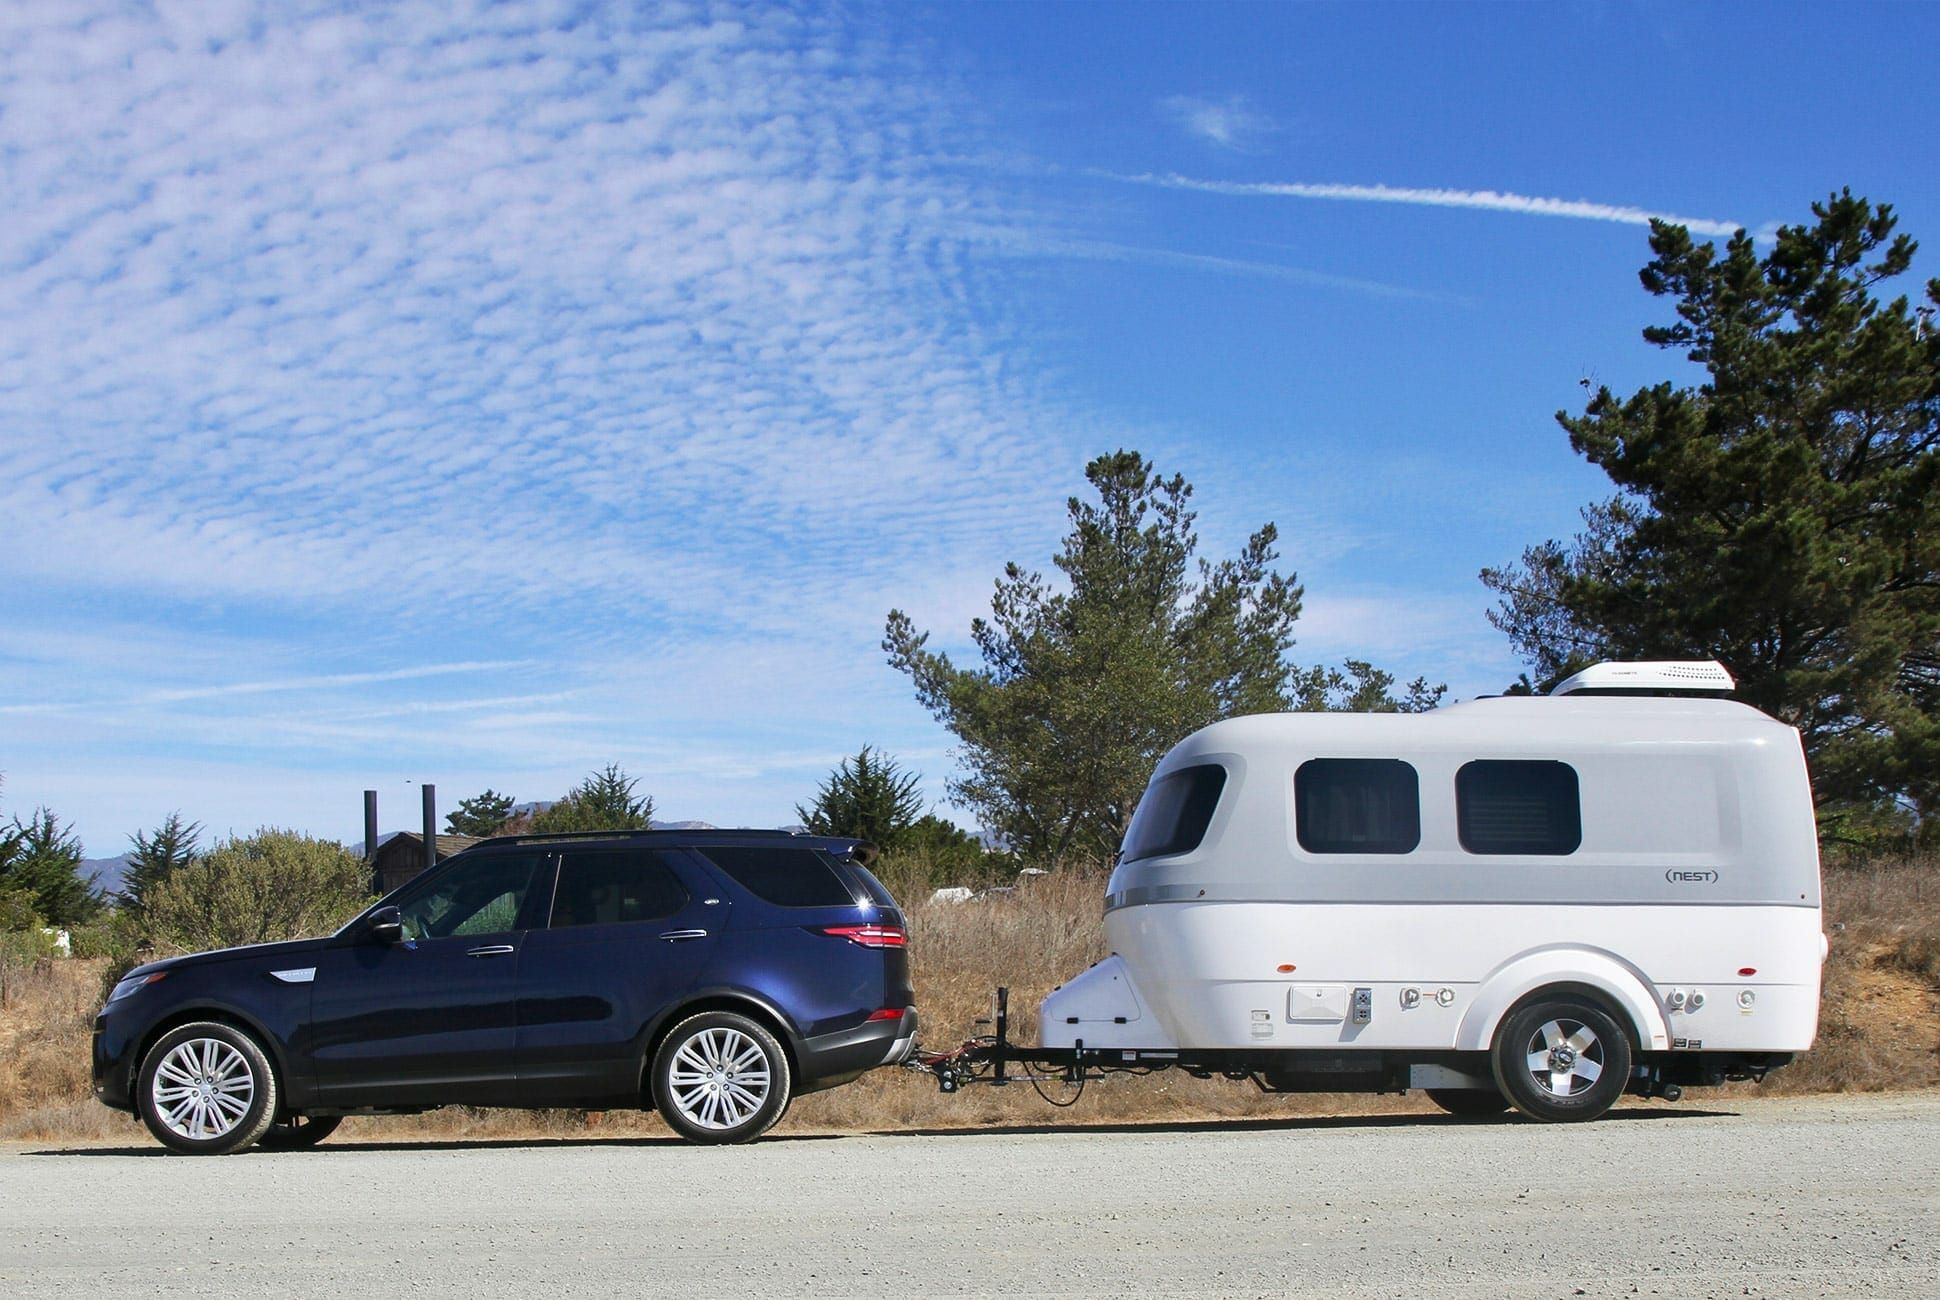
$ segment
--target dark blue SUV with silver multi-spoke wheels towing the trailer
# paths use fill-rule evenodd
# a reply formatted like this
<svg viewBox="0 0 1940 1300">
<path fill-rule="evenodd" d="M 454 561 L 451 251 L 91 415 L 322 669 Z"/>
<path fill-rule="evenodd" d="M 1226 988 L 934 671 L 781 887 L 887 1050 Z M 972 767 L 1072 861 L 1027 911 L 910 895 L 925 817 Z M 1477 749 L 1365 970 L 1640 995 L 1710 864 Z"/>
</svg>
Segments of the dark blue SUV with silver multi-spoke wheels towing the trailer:
<svg viewBox="0 0 1940 1300">
<path fill-rule="evenodd" d="M 328 939 L 128 972 L 95 1021 L 95 1096 L 206 1154 L 452 1104 L 654 1106 L 747 1141 L 912 1050 L 873 856 L 762 830 L 487 840 Z"/>
</svg>

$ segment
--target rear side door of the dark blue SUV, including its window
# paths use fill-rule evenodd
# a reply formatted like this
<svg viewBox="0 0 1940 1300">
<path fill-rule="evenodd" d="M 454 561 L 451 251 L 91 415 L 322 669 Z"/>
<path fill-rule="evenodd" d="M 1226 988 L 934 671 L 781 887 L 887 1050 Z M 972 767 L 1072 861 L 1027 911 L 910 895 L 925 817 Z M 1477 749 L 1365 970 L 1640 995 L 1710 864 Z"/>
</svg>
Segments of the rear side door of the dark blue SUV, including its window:
<svg viewBox="0 0 1940 1300">
<path fill-rule="evenodd" d="M 681 854 L 640 846 L 566 846 L 557 879 L 520 957 L 520 1104 L 638 1106 L 646 1028 L 700 980 L 728 904 Z"/>
</svg>

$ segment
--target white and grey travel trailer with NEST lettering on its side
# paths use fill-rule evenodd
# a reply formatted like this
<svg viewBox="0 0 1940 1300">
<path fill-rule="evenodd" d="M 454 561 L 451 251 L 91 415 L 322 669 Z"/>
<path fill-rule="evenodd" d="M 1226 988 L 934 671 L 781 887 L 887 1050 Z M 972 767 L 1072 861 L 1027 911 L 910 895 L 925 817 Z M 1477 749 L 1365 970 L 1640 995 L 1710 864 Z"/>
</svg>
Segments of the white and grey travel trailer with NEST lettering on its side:
<svg viewBox="0 0 1940 1300">
<path fill-rule="evenodd" d="M 1044 1046 L 1536 1120 L 1763 1077 L 1818 1030 L 1818 836 L 1798 733 L 1730 687 L 1604 664 L 1189 735 L 1112 873 L 1112 957 L 1044 1001 Z"/>
</svg>

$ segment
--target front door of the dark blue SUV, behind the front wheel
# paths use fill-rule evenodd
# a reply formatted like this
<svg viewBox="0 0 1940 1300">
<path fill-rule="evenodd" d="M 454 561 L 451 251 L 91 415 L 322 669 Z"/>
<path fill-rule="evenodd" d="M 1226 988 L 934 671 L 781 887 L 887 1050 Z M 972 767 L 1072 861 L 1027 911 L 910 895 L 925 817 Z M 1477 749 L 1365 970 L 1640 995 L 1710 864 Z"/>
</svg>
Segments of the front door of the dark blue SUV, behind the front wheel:
<svg viewBox="0 0 1940 1300">
<path fill-rule="evenodd" d="M 508 1104 L 518 949 L 547 852 L 454 858 L 394 898 L 402 943 L 318 955 L 308 1057 L 328 1106 Z"/>
</svg>

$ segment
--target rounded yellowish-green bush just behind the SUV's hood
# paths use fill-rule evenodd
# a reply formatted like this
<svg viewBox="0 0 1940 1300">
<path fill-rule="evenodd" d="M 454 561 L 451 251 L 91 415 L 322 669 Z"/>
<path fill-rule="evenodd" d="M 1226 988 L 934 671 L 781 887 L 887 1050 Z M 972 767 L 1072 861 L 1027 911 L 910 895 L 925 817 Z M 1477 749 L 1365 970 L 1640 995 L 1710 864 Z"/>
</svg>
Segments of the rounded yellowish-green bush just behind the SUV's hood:
<svg viewBox="0 0 1940 1300">
<path fill-rule="evenodd" d="M 347 848 L 264 829 L 159 881 L 144 922 L 157 945 L 194 953 L 326 933 L 369 900 L 369 871 Z"/>
</svg>

